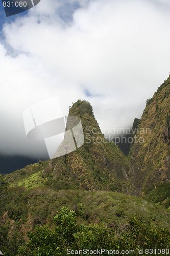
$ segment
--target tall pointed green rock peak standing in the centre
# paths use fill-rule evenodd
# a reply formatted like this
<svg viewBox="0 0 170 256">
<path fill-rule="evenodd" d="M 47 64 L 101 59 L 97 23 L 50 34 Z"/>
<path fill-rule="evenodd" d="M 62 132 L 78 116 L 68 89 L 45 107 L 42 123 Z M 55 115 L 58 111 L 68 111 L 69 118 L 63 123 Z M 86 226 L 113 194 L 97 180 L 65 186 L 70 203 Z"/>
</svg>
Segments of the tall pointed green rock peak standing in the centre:
<svg viewBox="0 0 170 256">
<path fill-rule="evenodd" d="M 78 150 L 50 161 L 43 171 L 58 189 L 126 191 L 128 159 L 117 146 L 106 141 L 89 102 L 78 100 L 69 116 L 81 119 L 84 144 Z"/>
</svg>

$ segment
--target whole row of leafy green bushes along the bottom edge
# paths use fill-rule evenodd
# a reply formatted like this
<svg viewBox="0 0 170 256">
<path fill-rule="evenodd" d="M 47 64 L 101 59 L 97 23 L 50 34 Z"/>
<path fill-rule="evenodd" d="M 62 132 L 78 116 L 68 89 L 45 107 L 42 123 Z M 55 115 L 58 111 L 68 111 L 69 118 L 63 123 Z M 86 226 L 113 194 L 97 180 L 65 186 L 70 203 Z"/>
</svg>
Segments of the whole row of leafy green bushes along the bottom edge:
<svg viewBox="0 0 170 256">
<path fill-rule="evenodd" d="M 76 213 L 63 206 L 54 217 L 57 227 L 50 230 L 36 227 L 28 233 L 29 242 L 19 248 L 19 255 L 67 255 L 67 249 L 95 250 L 109 249 L 146 249 L 169 248 L 170 232 L 154 227 L 151 223 L 133 218 L 128 227 L 116 234 L 113 228 L 103 223 L 77 225 Z"/>
</svg>

